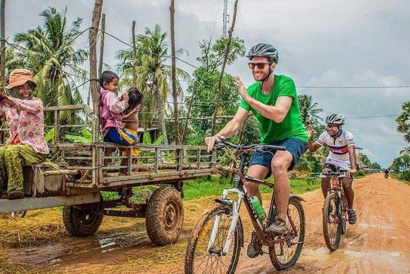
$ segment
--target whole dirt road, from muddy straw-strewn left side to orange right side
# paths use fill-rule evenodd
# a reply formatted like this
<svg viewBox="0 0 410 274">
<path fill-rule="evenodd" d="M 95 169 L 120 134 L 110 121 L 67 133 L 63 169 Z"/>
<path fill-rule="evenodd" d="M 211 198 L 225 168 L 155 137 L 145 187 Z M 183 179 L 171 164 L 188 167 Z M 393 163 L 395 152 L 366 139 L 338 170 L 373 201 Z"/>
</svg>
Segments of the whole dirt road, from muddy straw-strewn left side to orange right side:
<svg viewBox="0 0 410 274">
<path fill-rule="evenodd" d="M 358 221 L 347 225 L 339 249 L 332 253 L 323 240 L 320 190 L 301 195 L 306 200 L 305 244 L 296 266 L 285 273 L 410 273 L 410 186 L 376 174 L 355 180 L 353 188 Z M 268 201 L 268 195 L 264 199 Z M 103 227 L 85 239 L 9 249 L 6 258 L 38 273 L 181 273 L 189 232 L 211 203 L 212 198 L 185 203 L 184 232 L 171 246 L 154 246 L 144 232 L 143 221 L 136 220 L 120 232 Z M 243 213 L 247 246 L 251 226 Z M 276 273 L 267 255 L 248 258 L 246 246 L 237 273 Z"/>
</svg>

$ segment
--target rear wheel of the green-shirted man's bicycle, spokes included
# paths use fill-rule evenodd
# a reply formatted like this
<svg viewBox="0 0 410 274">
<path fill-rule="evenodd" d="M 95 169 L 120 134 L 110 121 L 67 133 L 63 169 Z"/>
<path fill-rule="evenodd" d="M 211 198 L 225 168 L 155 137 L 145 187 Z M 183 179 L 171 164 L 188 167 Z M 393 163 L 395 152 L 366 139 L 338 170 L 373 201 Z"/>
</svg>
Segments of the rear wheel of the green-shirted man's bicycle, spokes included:
<svg viewBox="0 0 410 274">
<path fill-rule="evenodd" d="M 285 241 L 269 246 L 270 261 L 277 270 L 288 269 L 295 265 L 302 251 L 306 223 L 302 204 L 297 198 L 289 199 L 286 225 L 288 233 L 276 235 L 273 239 L 276 242 Z"/>
</svg>

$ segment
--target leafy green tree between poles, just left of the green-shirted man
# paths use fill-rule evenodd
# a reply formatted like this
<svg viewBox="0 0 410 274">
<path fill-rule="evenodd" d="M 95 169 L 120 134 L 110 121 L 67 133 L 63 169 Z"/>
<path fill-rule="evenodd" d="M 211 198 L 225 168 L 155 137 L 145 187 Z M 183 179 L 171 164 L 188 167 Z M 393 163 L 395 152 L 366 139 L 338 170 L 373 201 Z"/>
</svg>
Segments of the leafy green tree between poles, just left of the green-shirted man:
<svg viewBox="0 0 410 274">
<path fill-rule="evenodd" d="M 192 93 L 194 86 L 195 96 L 191 106 L 190 116 L 210 116 L 216 104 L 218 80 L 220 71 L 218 70 L 223 62 L 223 54 L 227 44 L 227 38 L 219 38 L 214 44 L 212 41 L 202 41 L 199 43 L 201 56 L 197 58 L 201 66 L 193 72 L 193 81 L 188 86 L 188 92 Z M 245 55 L 245 43 L 242 39 L 235 37 L 231 41 L 227 64 L 232 64 L 238 57 Z M 239 95 L 234 84 L 233 76 L 225 73 L 221 82 L 222 101 L 220 113 L 218 115 L 234 115 L 239 105 Z M 186 98 L 189 103 L 189 96 Z M 212 119 L 191 120 L 189 122 L 188 143 L 204 144 L 204 138 L 211 134 Z M 228 120 L 217 120 L 217 130 L 221 129 Z M 248 122 L 246 122 L 247 124 Z M 251 127 L 254 122 L 250 122 Z M 253 124 L 252 124 L 253 123 Z M 246 130 L 246 128 L 244 129 Z M 259 129 L 258 129 L 259 131 Z M 244 134 L 249 137 L 248 134 Z M 247 137 L 246 137 L 247 138 Z M 245 141 L 245 140 L 244 140 Z M 250 142 L 251 139 L 246 140 Z M 243 142 L 242 142 L 243 143 Z"/>
</svg>

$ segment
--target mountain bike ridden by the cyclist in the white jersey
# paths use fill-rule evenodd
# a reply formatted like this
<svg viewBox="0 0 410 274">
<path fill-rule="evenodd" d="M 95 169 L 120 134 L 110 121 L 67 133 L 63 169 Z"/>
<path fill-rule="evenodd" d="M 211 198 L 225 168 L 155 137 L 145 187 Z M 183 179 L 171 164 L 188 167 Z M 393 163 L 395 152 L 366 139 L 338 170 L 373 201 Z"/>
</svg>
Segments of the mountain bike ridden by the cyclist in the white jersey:
<svg viewBox="0 0 410 274">
<path fill-rule="evenodd" d="M 341 235 L 346 233 L 347 200 L 342 187 L 342 181 L 345 177 L 346 172 L 320 173 L 318 177 L 331 178 L 323 205 L 322 221 L 326 246 L 332 251 L 339 247 Z"/>
</svg>

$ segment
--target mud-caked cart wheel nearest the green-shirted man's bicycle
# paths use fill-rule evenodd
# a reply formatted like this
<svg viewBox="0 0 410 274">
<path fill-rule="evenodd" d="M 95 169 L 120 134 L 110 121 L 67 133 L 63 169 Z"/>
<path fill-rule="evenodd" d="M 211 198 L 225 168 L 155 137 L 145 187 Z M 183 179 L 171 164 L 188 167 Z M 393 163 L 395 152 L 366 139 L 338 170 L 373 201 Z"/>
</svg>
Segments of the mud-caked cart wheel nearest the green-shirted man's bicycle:
<svg viewBox="0 0 410 274">
<path fill-rule="evenodd" d="M 184 223 L 181 194 L 173 187 L 161 187 L 152 193 L 145 213 L 149 239 L 157 245 L 176 242 Z"/>
</svg>

